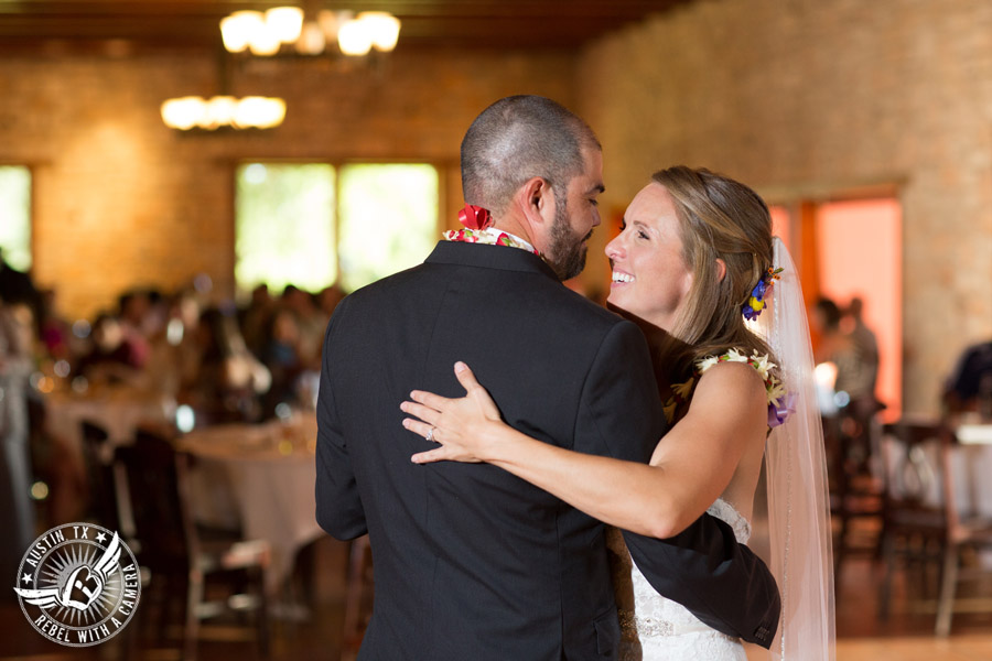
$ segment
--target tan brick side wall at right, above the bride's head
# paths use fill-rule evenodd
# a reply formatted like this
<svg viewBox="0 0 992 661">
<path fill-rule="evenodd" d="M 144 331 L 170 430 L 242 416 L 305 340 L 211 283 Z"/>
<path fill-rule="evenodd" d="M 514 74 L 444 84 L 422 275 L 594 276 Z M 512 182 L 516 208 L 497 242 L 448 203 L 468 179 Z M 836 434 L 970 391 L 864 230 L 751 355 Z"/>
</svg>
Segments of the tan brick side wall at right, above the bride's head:
<svg viewBox="0 0 992 661">
<path fill-rule="evenodd" d="M 937 410 L 962 347 L 992 337 L 992 3 L 703 0 L 601 40 L 579 72 L 607 208 L 673 163 L 778 197 L 896 184 L 904 404 Z"/>
</svg>

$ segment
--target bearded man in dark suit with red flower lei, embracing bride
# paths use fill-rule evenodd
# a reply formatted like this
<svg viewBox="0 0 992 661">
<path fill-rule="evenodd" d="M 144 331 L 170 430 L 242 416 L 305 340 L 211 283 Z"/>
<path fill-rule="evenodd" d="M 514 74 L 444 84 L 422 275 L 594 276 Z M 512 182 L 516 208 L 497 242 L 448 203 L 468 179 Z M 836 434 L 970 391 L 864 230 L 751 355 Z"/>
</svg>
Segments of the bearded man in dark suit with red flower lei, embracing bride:
<svg viewBox="0 0 992 661">
<path fill-rule="evenodd" d="M 359 658 L 615 659 L 603 524 L 490 465 L 411 464 L 434 445 L 403 430 L 399 409 L 414 388 L 461 395 L 464 360 L 514 427 L 648 460 L 665 423 L 645 339 L 560 282 L 582 270 L 600 224 L 600 144 L 554 101 L 508 97 L 468 129 L 462 184 L 479 229 L 346 297 L 324 343 L 316 517 L 338 539 L 369 534 L 375 613 Z M 661 594 L 770 644 L 775 582 L 722 521 L 625 539 Z"/>
</svg>

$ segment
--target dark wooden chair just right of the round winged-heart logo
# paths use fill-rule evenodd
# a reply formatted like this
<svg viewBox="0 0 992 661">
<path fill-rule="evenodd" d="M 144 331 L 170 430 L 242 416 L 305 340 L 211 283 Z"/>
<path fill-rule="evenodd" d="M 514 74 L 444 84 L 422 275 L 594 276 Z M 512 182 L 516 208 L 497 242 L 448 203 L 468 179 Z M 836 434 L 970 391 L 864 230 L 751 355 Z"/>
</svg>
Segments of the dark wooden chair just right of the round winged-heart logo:
<svg viewBox="0 0 992 661">
<path fill-rule="evenodd" d="M 176 453 L 161 436 L 139 431 L 132 446 L 119 447 L 117 455 L 128 470 L 136 532 L 140 542 L 138 561 L 151 572 L 152 589 L 174 595 L 174 585 L 184 587 L 185 617 L 183 659 L 196 657 L 200 621 L 229 609 L 254 609 L 260 650 L 268 657 L 268 595 L 265 571 L 269 544 L 261 540 L 207 541 L 193 521 L 188 486 L 190 457 Z M 225 578 L 224 600 L 208 602 L 207 578 Z M 250 595 L 235 594 L 242 584 L 254 586 Z M 216 581 L 212 581 L 213 585 Z M 163 606 L 163 614 L 170 604 Z M 160 629 L 161 632 L 161 629 Z"/>
</svg>

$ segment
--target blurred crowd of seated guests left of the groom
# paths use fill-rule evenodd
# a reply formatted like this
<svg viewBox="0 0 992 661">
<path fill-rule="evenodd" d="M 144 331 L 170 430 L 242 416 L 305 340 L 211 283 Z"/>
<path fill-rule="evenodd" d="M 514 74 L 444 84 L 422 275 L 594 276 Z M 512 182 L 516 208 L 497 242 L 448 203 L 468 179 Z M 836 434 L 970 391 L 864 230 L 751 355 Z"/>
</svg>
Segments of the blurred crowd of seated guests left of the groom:
<svg viewBox="0 0 992 661">
<path fill-rule="evenodd" d="M 134 289 L 91 321 L 62 317 L 54 292 L 15 304 L 42 392 L 120 386 L 161 392 L 205 422 L 256 422 L 313 408 L 324 330 L 343 297 L 258 285 L 244 306 L 211 301 L 205 279 L 172 294 Z"/>
</svg>

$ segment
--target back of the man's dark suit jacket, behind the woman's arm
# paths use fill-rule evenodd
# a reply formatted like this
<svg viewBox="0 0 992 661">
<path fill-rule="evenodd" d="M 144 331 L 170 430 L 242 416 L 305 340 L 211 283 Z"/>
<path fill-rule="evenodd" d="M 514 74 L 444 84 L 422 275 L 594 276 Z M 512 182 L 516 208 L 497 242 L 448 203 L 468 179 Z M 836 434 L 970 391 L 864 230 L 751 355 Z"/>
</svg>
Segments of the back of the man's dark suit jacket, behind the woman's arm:
<svg viewBox="0 0 992 661">
<path fill-rule="evenodd" d="M 571 447 L 576 426 L 589 426 L 589 375 L 618 325 L 630 332 L 504 247 L 442 243 L 425 264 L 345 300 L 325 345 L 319 415 L 320 446 L 346 448 L 319 454 L 317 514 L 338 537 L 370 534 L 376 600 L 363 658 L 606 651 L 616 615 L 602 525 L 490 465 L 411 464 L 432 445 L 403 430 L 399 403 L 414 388 L 463 394 L 453 364 L 464 360 L 510 425 Z M 660 434 L 657 397 L 646 364 L 626 369 L 634 384 L 615 403 L 644 419 L 644 438 L 618 454 L 643 459 Z M 345 484 L 352 474 L 357 489 Z M 360 502 L 347 503 L 352 491 Z"/>
</svg>

